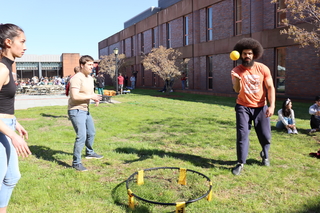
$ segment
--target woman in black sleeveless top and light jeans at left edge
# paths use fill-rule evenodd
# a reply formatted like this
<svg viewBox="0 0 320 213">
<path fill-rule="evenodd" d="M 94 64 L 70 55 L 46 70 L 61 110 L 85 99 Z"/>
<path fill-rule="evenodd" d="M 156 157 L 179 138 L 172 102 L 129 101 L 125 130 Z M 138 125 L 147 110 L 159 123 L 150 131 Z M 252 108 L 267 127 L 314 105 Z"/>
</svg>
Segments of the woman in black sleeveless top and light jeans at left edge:
<svg viewBox="0 0 320 213">
<path fill-rule="evenodd" d="M 26 51 L 25 42 L 26 37 L 20 27 L 0 24 L 0 213 L 7 211 L 13 188 L 21 177 L 18 156 L 31 154 L 25 141 L 28 132 L 14 116 L 16 85 L 12 64 Z"/>
</svg>

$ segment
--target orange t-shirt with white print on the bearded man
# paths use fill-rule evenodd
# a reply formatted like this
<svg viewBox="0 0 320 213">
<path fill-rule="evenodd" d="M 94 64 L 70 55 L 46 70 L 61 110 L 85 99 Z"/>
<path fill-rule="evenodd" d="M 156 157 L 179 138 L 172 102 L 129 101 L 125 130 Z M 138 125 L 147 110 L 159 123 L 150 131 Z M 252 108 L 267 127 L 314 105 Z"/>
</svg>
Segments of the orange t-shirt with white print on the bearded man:
<svg viewBox="0 0 320 213">
<path fill-rule="evenodd" d="M 241 90 L 238 94 L 237 104 L 252 108 L 266 105 L 267 90 L 264 81 L 271 78 L 269 68 L 262 63 L 254 62 L 251 68 L 241 64 L 233 68 L 233 71 L 241 77 Z"/>
</svg>

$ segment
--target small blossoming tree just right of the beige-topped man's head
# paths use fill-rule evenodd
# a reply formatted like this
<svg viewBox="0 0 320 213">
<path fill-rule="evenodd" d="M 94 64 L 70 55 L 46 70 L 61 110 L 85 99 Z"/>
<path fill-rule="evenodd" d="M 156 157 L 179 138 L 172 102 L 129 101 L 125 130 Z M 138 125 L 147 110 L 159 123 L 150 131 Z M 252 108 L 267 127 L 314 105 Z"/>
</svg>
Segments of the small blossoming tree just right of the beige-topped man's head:
<svg viewBox="0 0 320 213">
<path fill-rule="evenodd" d="M 117 57 L 117 63 L 116 63 L 116 56 L 114 53 L 110 55 L 103 55 L 101 56 L 101 60 L 99 63 L 99 72 L 106 73 L 110 76 L 110 78 L 113 80 L 113 83 L 116 82 L 116 64 L 118 66 L 118 70 L 125 65 L 124 59 L 125 54 L 119 54 Z"/>
</svg>

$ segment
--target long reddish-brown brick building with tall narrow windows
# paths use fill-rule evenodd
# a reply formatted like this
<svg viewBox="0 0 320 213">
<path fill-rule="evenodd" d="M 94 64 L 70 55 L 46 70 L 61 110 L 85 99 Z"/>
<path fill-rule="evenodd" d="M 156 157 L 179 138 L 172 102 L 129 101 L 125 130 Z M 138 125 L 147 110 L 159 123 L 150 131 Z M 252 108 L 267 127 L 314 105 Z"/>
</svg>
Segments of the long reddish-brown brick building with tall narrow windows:
<svg viewBox="0 0 320 213">
<path fill-rule="evenodd" d="M 281 6 L 270 0 L 159 0 L 158 7 L 135 16 L 122 31 L 99 42 L 99 56 L 117 47 L 126 55 L 122 73 L 138 71 L 138 87 L 160 88 L 162 80 L 144 70 L 141 52 L 160 45 L 176 48 L 190 59 L 189 92 L 232 96 L 230 71 L 237 62 L 229 59 L 229 53 L 239 39 L 252 37 L 264 47 L 259 61 L 270 68 L 277 95 L 313 99 L 320 94 L 320 60 L 312 47 L 299 48 L 280 35 L 280 19 L 286 16 L 277 10 Z M 180 89 L 180 82 L 174 88 Z"/>
</svg>

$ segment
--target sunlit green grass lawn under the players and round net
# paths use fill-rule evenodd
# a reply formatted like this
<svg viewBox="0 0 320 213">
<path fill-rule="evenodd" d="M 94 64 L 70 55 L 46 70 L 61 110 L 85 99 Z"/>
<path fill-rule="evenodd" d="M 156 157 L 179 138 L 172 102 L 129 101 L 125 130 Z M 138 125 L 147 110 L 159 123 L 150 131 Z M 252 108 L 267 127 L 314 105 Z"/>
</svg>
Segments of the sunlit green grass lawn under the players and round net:
<svg viewBox="0 0 320 213">
<path fill-rule="evenodd" d="M 247 165 L 234 176 L 235 98 L 137 89 L 113 99 L 121 103 L 90 106 L 94 148 L 104 158 L 83 159 L 87 172 L 71 168 L 75 133 L 66 106 L 16 111 L 33 155 L 20 159 L 22 178 L 8 212 L 175 212 L 175 206 L 138 199 L 135 210 L 128 208 L 126 179 L 153 167 L 187 168 L 211 179 L 212 201 L 191 203 L 187 212 L 320 212 L 320 160 L 309 157 L 319 149 L 320 134 L 306 133 L 312 102 L 293 102 L 298 135 L 277 131 L 277 115 L 271 118 L 270 167 L 260 166 L 261 147 L 251 131 Z M 178 185 L 178 176 L 145 172 L 145 184 L 131 182 L 130 189 L 145 199 L 175 203 L 208 188 L 188 172 L 187 185 Z"/>
</svg>

